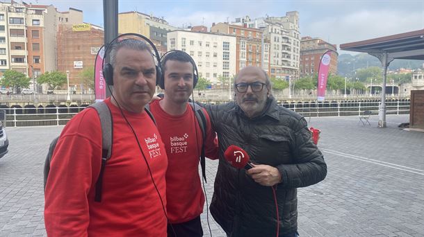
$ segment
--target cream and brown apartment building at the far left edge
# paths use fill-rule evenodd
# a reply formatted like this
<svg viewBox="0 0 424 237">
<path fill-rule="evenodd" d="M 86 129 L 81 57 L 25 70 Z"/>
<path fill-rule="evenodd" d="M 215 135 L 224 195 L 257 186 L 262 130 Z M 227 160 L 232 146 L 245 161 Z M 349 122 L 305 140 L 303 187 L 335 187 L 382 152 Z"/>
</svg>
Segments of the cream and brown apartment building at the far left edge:
<svg viewBox="0 0 424 237">
<path fill-rule="evenodd" d="M 82 21 L 80 10 L 58 12 L 54 6 L 0 2 L 0 74 L 12 69 L 34 79 L 56 70 L 58 25 L 73 21 Z M 35 89 L 35 80 L 30 88 Z"/>
</svg>

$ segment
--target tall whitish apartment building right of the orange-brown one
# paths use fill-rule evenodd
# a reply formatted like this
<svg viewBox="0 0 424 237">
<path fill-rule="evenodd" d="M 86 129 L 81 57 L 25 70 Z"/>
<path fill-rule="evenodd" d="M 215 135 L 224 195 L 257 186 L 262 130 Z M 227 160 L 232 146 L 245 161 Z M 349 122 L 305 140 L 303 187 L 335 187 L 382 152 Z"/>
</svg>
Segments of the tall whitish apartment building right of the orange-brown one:
<svg viewBox="0 0 424 237">
<path fill-rule="evenodd" d="M 299 12 L 286 12 L 284 17 L 236 18 L 238 26 L 264 30 L 270 42 L 270 76 L 273 78 L 299 77 L 300 31 Z"/>
</svg>

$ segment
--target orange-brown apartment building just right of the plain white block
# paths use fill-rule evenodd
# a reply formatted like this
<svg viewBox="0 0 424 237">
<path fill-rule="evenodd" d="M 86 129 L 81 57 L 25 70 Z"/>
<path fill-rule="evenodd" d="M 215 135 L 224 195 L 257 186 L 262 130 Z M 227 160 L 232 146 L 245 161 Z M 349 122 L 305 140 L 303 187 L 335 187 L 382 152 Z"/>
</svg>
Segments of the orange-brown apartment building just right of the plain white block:
<svg viewBox="0 0 424 237">
<path fill-rule="evenodd" d="M 262 67 L 268 75 L 270 74 L 270 43 L 266 39 L 263 39 L 264 51 L 262 56 L 263 30 L 227 23 L 218 23 L 213 24 L 211 32 L 236 35 L 236 73 L 244 67 L 255 66 Z"/>
</svg>

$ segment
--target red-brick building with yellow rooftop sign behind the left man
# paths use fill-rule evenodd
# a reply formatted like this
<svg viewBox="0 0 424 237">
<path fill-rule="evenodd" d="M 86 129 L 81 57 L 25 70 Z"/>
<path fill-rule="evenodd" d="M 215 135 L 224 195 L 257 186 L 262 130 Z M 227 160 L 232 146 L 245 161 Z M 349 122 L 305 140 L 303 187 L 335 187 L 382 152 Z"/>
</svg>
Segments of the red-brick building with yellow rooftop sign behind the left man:
<svg viewBox="0 0 424 237">
<path fill-rule="evenodd" d="M 58 29 L 58 71 L 69 71 L 71 89 L 86 91 L 89 85 L 80 73 L 94 67 L 97 52 L 104 44 L 104 30 L 92 24 L 62 24 Z"/>
</svg>

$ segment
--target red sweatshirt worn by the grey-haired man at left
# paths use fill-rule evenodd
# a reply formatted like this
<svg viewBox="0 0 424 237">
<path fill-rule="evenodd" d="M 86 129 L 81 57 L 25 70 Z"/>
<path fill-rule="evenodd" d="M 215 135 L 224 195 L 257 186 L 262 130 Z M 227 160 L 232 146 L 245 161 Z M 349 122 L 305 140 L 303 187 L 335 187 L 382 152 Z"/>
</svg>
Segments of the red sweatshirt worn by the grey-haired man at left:
<svg viewBox="0 0 424 237">
<path fill-rule="evenodd" d="M 95 183 L 101 166 L 101 125 L 95 109 L 76 114 L 63 129 L 45 189 L 44 220 L 49 236 L 166 236 L 165 148 L 146 112 L 124 111 L 144 157 L 120 110 L 111 103 L 112 156 L 106 162 L 101 202 Z"/>
</svg>

